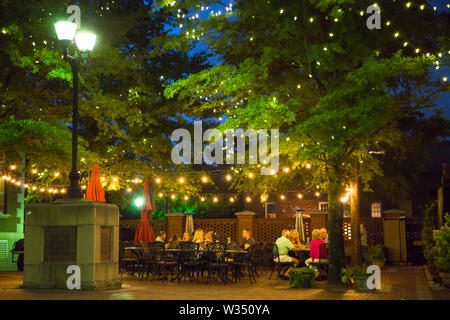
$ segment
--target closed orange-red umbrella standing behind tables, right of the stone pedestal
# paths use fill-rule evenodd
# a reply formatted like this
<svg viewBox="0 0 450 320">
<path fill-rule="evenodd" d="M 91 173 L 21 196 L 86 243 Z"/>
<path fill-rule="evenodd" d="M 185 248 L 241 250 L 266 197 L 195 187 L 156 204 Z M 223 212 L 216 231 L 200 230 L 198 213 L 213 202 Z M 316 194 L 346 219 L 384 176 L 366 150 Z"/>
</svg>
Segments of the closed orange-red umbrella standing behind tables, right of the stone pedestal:
<svg viewBox="0 0 450 320">
<path fill-rule="evenodd" d="M 141 210 L 141 221 L 139 221 L 134 240 L 153 242 L 155 241 L 155 234 L 150 226 L 148 215 L 155 210 L 155 198 L 153 197 L 153 188 L 150 185 L 150 179 L 145 178 L 144 181 L 144 204 Z"/>
</svg>

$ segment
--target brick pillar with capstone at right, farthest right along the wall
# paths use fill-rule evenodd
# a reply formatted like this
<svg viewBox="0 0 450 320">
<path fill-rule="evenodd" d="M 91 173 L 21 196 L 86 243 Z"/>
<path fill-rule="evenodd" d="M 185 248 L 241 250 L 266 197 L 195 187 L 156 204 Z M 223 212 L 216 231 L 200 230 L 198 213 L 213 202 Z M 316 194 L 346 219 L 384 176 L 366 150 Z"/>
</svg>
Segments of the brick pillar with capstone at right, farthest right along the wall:
<svg viewBox="0 0 450 320">
<path fill-rule="evenodd" d="M 405 211 L 383 211 L 383 234 L 387 260 L 390 262 L 406 262 Z"/>
</svg>

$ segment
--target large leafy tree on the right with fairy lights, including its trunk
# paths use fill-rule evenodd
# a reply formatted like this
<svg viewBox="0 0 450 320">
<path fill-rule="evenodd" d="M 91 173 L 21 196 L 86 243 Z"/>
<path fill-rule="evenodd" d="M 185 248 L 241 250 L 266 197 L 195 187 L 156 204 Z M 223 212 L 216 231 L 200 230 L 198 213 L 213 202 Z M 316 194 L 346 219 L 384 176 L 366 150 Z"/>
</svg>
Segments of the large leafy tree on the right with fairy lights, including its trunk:
<svg viewBox="0 0 450 320">
<path fill-rule="evenodd" d="M 328 194 L 329 280 L 337 282 L 345 266 L 339 199 L 349 177 L 369 181 L 381 174 L 370 151 L 398 145 L 404 115 L 420 119 L 420 109 L 431 108 L 434 95 L 448 87 L 430 73 L 445 62 L 439 36 L 448 21 L 428 4 L 401 1 L 378 3 L 380 30 L 366 27 L 371 1 L 219 4 L 169 7 L 186 14 L 178 19 L 179 41 L 192 41 L 195 31 L 223 63 L 173 83 L 166 96 L 187 100 L 186 112 L 201 104 L 191 114 L 226 117 L 222 129 L 279 128 L 287 163 L 317 168 L 315 180 Z M 192 19 L 201 5 L 215 6 L 215 14 Z"/>
</svg>

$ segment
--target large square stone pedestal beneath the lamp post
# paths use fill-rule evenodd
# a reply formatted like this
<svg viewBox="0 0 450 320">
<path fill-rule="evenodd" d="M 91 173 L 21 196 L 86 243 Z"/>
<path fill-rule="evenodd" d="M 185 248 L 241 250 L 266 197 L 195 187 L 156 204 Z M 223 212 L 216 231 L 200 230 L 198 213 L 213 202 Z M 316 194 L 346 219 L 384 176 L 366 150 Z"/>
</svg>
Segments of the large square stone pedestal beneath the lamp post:
<svg viewBox="0 0 450 320">
<path fill-rule="evenodd" d="M 68 266 L 80 268 L 81 290 L 121 288 L 119 208 L 57 200 L 27 208 L 24 288 L 68 289 Z"/>
</svg>

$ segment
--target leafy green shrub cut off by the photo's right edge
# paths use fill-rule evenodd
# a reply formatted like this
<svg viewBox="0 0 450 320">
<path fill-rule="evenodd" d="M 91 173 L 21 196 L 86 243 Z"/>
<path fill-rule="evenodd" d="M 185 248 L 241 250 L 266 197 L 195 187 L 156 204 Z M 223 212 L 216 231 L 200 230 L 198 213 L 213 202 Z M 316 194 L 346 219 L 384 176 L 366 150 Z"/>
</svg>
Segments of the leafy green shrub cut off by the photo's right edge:
<svg viewBox="0 0 450 320">
<path fill-rule="evenodd" d="M 446 222 L 439 229 L 433 232 L 433 239 L 436 245 L 433 247 L 433 256 L 436 267 L 439 270 L 439 277 L 445 287 L 450 287 L 450 221 L 448 214 L 445 216 Z"/>
</svg>

